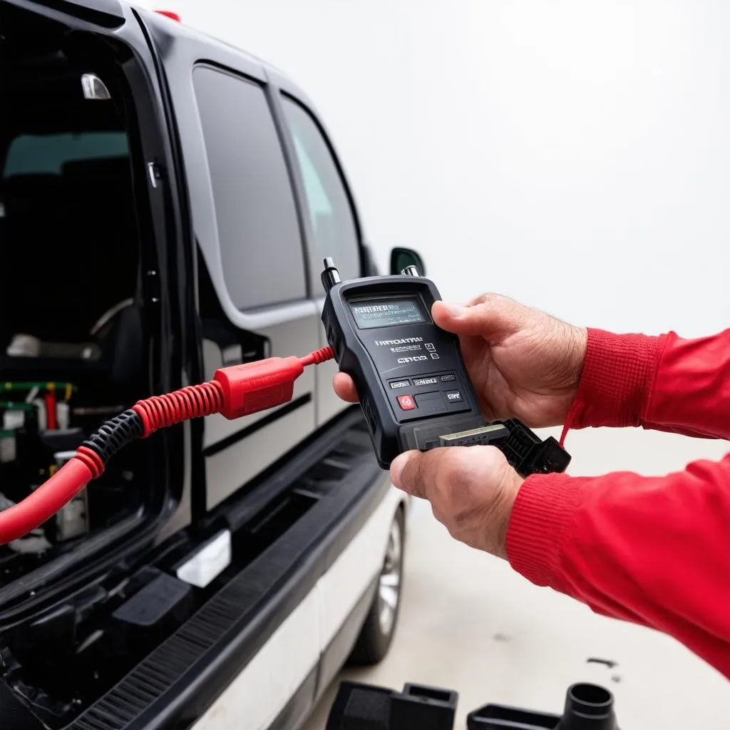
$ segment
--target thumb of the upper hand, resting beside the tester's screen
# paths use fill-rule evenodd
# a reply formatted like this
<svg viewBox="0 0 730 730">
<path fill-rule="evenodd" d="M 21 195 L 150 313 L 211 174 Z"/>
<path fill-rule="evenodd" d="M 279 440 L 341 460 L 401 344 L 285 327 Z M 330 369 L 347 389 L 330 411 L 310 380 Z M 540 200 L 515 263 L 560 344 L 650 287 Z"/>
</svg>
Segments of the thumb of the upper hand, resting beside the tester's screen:
<svg viewBox="0 0 730 730">
<path fill-rule="evenodd" d="M 478 335 L 496 342 L 519 328 L 518 318 L 510 304 L 509 299 L 502 297 L 484 298 L 466 306 L 436 301 L 431 308 L 431 315 L 434 322 L 447 332 Z"/>
</svg>

